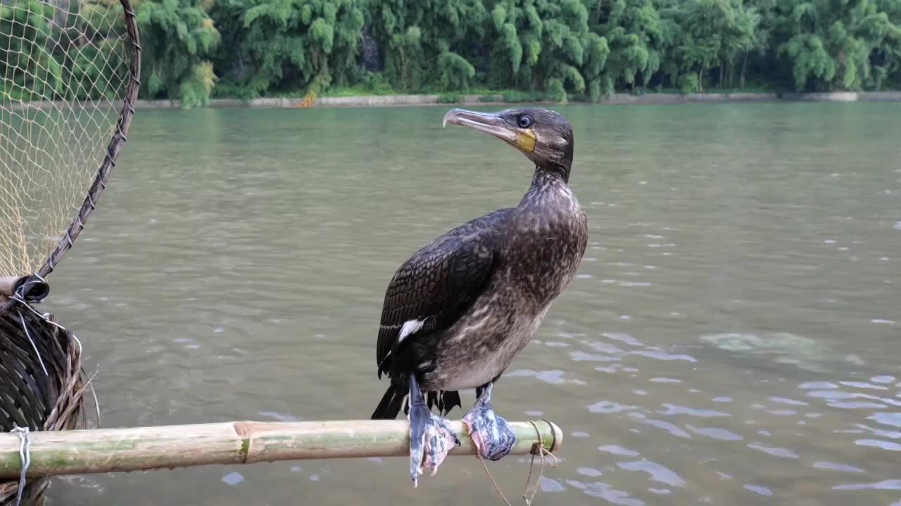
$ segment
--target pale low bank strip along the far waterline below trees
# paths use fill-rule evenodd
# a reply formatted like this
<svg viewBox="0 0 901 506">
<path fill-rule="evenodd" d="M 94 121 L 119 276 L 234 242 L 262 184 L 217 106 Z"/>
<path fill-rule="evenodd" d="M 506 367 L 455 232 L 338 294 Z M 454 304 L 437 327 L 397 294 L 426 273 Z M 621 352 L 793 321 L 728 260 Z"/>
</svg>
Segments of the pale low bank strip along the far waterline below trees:
<svg viewBox="0 0 901 506">
<path fill-rule="evenodd" d="M 494 100 L 491 100 L 494 98 Z M 649 93 L 645 95 L 614 94 L 599 104 L 685 104 L 715 102 L 901 102 L 901 92 L 833 92 L 833 93 Z M 498 105 L 510 104 L 501 95 L 460 95 L 448 102 L 444 95 L 361 95 L 322 96 L 310 107 L 396 107 L 405 105 Z M 550 103 L 549 103 L 550 104 Z M 581 103 L 574 103 L 581 104 Z M 177 100 L 139 100 L 136 108 L 178 108 Z M 209 107 L 259 107 L 293 109 L 305 106 L 303 97 L 210 100 Z"/>
</svg>

